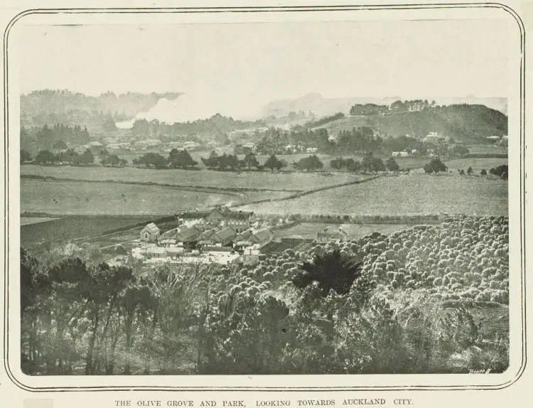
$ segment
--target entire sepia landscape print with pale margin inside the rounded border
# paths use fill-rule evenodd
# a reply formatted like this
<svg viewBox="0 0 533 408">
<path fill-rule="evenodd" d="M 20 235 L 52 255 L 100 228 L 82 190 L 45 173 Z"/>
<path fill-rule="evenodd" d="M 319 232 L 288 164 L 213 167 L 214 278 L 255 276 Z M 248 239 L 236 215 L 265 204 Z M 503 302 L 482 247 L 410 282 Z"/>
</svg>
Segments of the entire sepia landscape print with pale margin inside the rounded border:
<svg viewBox="0 0 533 408">
<path fill-rule="evenodd" d="M 23 16 L 11 369 L 514 376 L 522 40 L 459 11 Z"/>
</svg>

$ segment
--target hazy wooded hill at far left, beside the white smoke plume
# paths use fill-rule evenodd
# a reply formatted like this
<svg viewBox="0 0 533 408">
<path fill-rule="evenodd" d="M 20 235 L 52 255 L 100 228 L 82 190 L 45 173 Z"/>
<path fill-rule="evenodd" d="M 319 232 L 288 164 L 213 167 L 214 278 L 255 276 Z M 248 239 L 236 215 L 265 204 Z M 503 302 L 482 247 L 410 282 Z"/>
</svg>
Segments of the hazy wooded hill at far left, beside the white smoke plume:
<svg viewBox="0 0 533 408">
<path fill-rule="evenodd" d="M 154 107 L 158 100 L 174 100 L 181 94 L 168 92 L 141 94 L 107 92 L 98 97 L 68 90 L 38 90 L 21 95 L 21 126 L 43 127 L 64 124 L 87 127 L 91 134 L 113 129 L 114 122 L 133 119 Z"/>
</svg>

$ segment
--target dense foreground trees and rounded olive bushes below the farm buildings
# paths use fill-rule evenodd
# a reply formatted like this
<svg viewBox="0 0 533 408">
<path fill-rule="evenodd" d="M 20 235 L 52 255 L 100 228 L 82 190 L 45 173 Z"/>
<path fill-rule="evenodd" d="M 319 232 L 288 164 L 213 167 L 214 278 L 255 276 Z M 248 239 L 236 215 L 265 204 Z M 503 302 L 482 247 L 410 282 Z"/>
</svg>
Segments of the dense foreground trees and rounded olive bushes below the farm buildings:
<svg viewBox="0 0 533 408">
<path fill-rule="evenodd" d="M 464 217 L 255 265 L 143 272 L 23 252 L 23 370 L 501 372 L 508 328 L 473 313 L 507 313 L 508 250 L 507 218 Z"/>
</svg>

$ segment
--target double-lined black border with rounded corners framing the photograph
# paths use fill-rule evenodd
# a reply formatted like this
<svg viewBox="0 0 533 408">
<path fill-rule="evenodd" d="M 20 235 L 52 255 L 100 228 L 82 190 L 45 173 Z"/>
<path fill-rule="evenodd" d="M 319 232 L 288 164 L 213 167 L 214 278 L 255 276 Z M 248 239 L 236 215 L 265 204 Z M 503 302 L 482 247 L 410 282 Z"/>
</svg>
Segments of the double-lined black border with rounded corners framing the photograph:
<svg viewBox="0 0 533 408">
<path fill-rule="evenodd" d="M 167 386 L 102 386 L 102 387 L 29 387 L 16 379 L 9 367 L 9 89 L 8 89 L 8 58 L 9 32 L 14 24 L 30 14 L 184 14 L 184 13 L 263 13 L 286 11 L 368 11 L 368 10 L 412 10 L 412 9 L 502 9 L 515 19 L 520 31 L 520 96 L 519 96 L 519 163 L 520 163 L 520 284 L 522 289 L 521 316 L 522 325 L 522 364 L 515 377 L 500 385 L 463 385 L 463 386 L 426 386 L 426 385 L 394 385 L 370 387 L 167 387 Z M 510 6 L 500 3 L 457 3 L 457 4 L 384 4 L 384 5 L 340 5 L 340 6 L 254 6 L 254 7 L 183 7 L 183 8 L 72 8 L 72 9 L 28 9 L 14 16 L 4 31 L 4 367 L 6 373 L 17 387 L 29 392 L 76 392 L 76 391 L 261 391 L 261 392 L 301 392 L 301 391 L 397 391 L 397 390 L 501 390 L 510 387 L 522 376 L 527 363 L 526 338 L 526 275 L 525 275 L 525 29 L 519 14 Z M 18 182 L 18 181 L 17 181 Z"/>
</svg>

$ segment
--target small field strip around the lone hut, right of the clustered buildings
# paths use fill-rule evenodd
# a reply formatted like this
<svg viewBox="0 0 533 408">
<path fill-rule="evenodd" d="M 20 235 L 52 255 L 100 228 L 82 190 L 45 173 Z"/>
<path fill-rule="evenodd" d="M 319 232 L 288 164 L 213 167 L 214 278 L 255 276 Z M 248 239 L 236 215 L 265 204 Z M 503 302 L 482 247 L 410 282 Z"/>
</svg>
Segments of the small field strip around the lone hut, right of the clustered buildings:
<svg viewBox="0 0 533 408">
<path fill-rule="evenodd" d="M 302 222 L 294 227 L 276 230 L 274 234 L 277 237 L 301 237 L 303 239 L 316 239 L 317 232 L 323 230 L 325 227 L 335 230 L 338 227 L 343 227 L 343 230 L 348 234 L 348 240 L 358 240 L 362 237 L 372 234 L 372 232 L 381 232 L 389 235 L 393 232 L 404 230 L 411 227 L 411 225 L 404 224 L 325 224 L 323 222 Z"/>
</svg>

